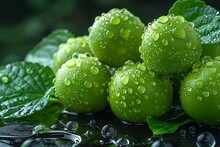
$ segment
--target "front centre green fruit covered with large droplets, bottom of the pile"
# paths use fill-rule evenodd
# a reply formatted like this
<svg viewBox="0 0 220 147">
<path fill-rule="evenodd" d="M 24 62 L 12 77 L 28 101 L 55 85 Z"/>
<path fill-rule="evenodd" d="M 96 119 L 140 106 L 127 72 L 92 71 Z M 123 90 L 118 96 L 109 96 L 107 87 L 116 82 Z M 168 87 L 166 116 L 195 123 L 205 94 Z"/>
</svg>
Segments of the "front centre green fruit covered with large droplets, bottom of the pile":
<svg viewBox="0 0 220 147">
<path fill-rule="evenodd" d="M 160 117 L 172 103 L 170 81 L 146 71 L 143 64 L 127 64 L 117 70 L 108 91 L 113 113 L 132 123 L 144 123 L 148 116 Z"/>
</svg>

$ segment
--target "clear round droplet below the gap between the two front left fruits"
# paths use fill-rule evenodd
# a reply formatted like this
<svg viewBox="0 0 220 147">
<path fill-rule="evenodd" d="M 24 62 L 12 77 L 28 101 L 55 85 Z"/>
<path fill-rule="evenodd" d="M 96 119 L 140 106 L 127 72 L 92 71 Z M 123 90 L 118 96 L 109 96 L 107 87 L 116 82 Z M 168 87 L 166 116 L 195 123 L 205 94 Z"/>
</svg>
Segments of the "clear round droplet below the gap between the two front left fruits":
<svg viewBox="0 0 220 147">
<path fill-rule="evenodd" d="M 115 138 L 116 133 L 117 131 L 113 128 L 111 124 L 105 125 L 101 130 L 102 137 L 105 139 Z"/>
</svg>

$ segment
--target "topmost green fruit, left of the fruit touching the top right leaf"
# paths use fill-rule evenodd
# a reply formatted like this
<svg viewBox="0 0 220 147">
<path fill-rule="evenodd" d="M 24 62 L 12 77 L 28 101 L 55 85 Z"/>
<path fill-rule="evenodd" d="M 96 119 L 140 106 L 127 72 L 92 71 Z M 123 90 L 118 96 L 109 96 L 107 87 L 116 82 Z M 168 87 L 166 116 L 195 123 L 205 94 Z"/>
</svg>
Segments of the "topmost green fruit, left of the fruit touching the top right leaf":
<svg viewBox="0 0 220 147">
<path fill-rule="evenodd" d="M 111 67 L 120 67 L 127 60 L 141 61 L 138 51 L 144 24 L 127 9 L 112 9 L 96 17 L 89 28 L 92 53 Z"/>
</svg>

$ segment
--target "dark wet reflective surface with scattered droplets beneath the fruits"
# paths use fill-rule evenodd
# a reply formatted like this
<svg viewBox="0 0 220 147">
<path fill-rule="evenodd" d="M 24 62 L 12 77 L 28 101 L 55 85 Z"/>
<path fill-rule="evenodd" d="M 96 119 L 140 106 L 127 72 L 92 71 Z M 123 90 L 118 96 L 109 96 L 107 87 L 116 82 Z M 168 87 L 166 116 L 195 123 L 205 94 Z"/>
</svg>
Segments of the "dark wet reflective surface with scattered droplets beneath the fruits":
<svg viewBox="0 0 220 147">
<path fill-rule="evenodd" d="M 77 140 L 80 142 L 79 145 L 77 141 L 74 142 L 74 139 L 79 139 L 78 135 L 81 139 Z M 4 138 L 4 136 L 8 137 Z M 48 128 L 30 124 L 8 125 L 0 128 L 0 146 L 21 145 L 25 147 L 75 145 L 214 147 L 220 146 L 220 128 L 189 123 L 181 126 L 175 133 L 152 136 L 146 124 L 122 122 L 109 110 L 94 115 L 65 112 L 57 124 Z"/>
</svg>

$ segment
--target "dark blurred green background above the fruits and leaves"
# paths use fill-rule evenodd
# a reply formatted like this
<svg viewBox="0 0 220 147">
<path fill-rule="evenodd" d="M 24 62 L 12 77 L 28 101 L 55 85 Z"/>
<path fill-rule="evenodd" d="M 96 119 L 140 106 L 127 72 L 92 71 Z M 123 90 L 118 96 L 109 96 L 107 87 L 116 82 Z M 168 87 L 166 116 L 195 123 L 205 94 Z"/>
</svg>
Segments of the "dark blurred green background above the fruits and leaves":
<svg viewBox="0 0 220 147">
<path fill-rule="evenodd" d="M 166 15 L 175 0 L 5 0 L 0 2 L 0 65 L 24 60 L 44 36 L 65 28 L 87 35 L 96 16 L 127 8 L 147 25 Z M 205 0 L 220 10 L 219 0 Z"/>
</svg>

